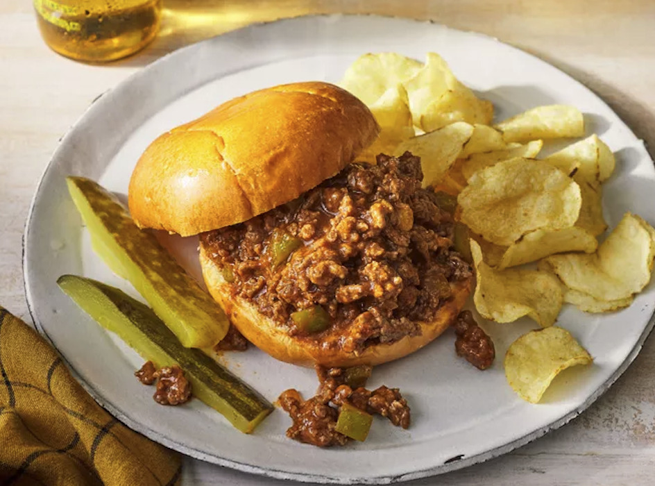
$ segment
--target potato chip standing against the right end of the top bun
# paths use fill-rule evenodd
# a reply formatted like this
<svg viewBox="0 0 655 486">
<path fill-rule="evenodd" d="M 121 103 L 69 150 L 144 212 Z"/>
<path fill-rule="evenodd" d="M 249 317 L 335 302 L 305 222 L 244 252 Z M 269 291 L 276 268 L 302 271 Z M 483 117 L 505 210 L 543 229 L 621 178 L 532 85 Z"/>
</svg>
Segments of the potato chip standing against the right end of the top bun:
<svg viewBox="0 0 655 486">
<path fill-rule="evenodd" d="M 380 125 L 380 135 L 359 154 L 357 160 L 375 164 L 378 153 L 391 154 L 400 142 L 414 137 L 414 124 L 409 112 L 407 92 L 400 84 L 390 87 L 368 108 Z"/>
</svg>

